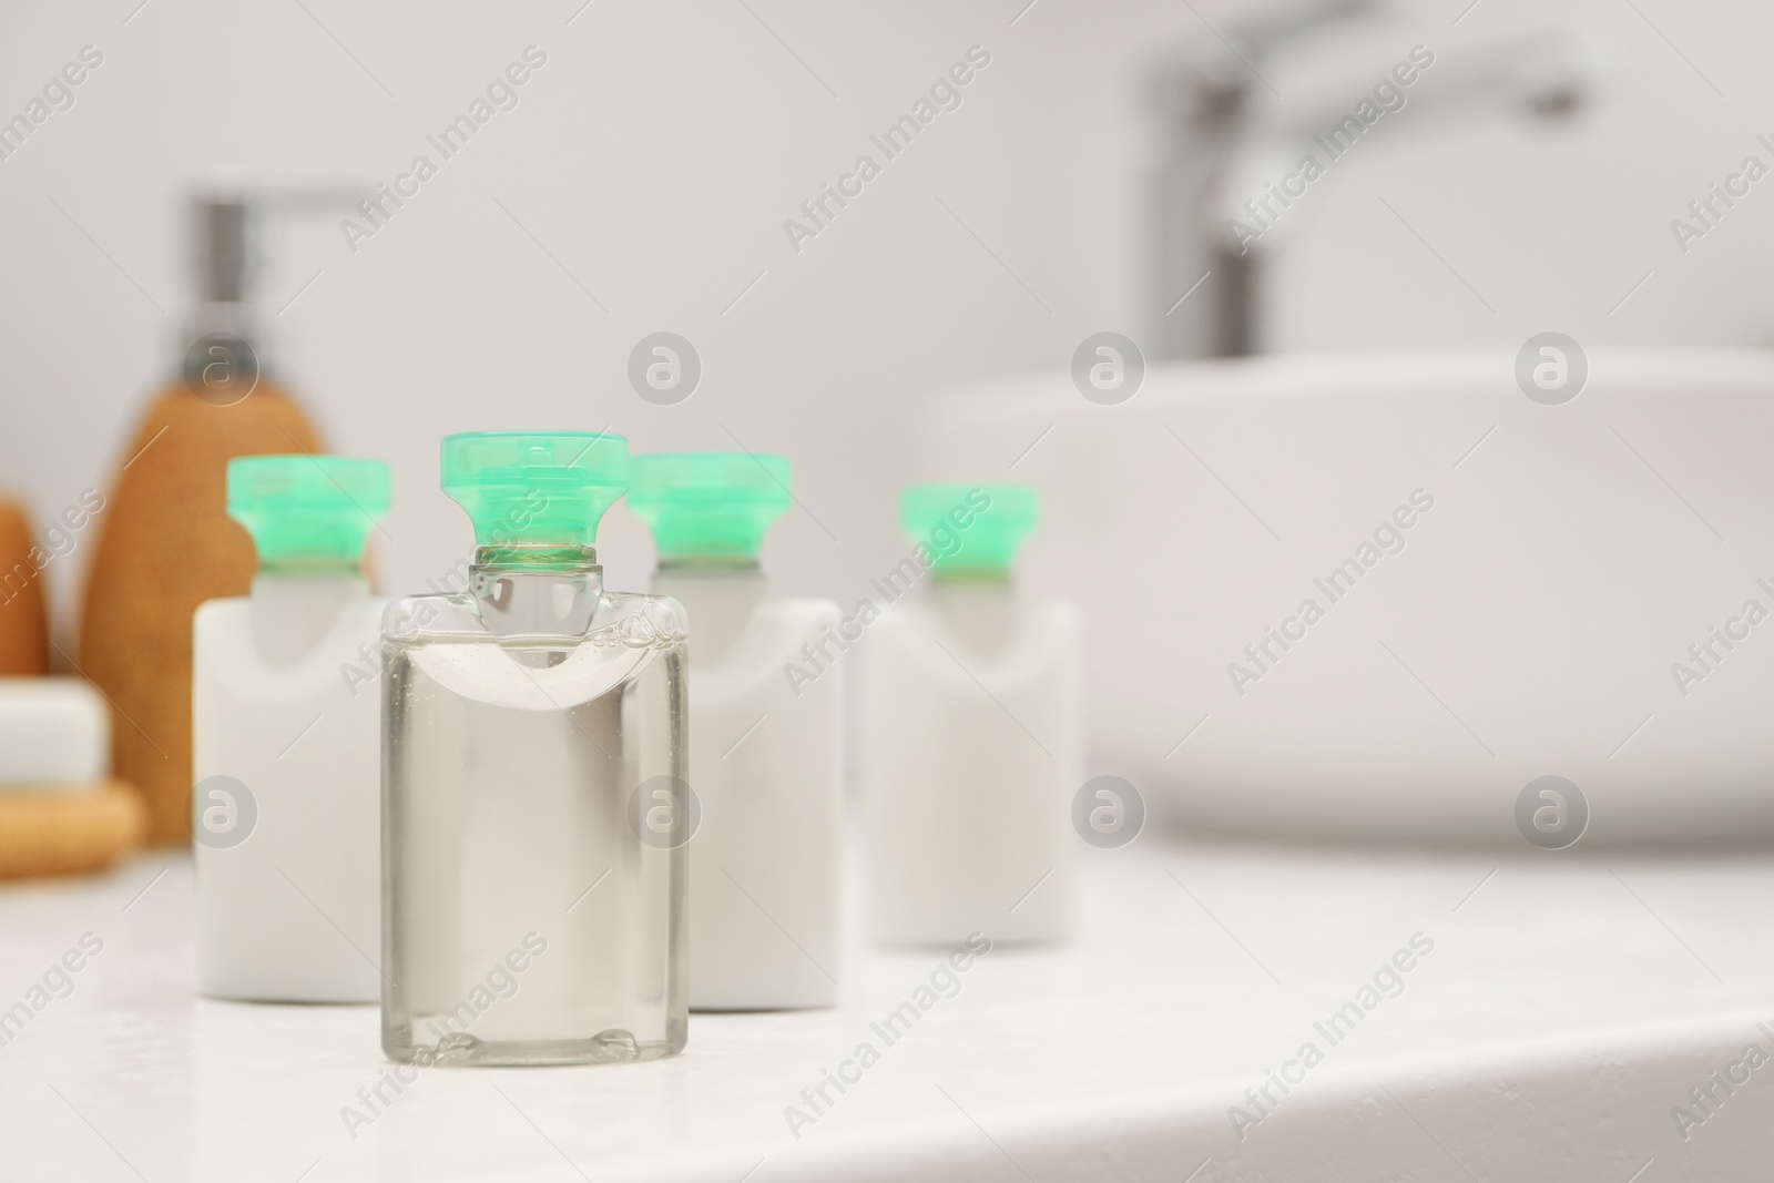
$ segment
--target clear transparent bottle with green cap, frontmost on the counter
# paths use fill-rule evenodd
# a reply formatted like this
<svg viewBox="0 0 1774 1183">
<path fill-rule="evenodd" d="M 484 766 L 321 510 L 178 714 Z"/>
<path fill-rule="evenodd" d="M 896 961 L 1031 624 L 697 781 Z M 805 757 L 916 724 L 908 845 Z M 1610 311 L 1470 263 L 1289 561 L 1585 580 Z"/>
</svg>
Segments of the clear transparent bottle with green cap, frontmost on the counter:
<svg viewBox="0 0 1774 1183">
<path fill-rule="evenodd" d="M 685 619 L 593 550 L 628 440 L 444 440 L 465 592 L 383 615 L 381 1046 L 426 1064 L 685 1045 Z"/>
</svg>

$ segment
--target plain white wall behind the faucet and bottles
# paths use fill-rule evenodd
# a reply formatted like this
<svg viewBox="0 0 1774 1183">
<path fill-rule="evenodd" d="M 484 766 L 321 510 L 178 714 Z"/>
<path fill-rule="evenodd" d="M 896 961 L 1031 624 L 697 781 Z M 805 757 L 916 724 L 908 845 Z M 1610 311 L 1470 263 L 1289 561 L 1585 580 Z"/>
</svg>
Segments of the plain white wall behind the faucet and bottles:
<svg viewBox="0 0 1774 1183">
<path fill-rule="evenodd" d="M 766 564 L 852 601 L 901 553 L 892 497 L 922 475 L 917 424 L 947 388 L 1061 371 L 1103 328 L 1150 339 L 1153 66 L 1293 7 L 7 4 L 0 114 L 85 44 L 103 66 L 0 160 L 0 481 L 44 521 L 106 486 L 174 360 L 193 184 L 218 167 L 255 186 L 392 183 L 534 44 L 546 64 L 518 105 L 355 252 L 334 213 L 268 239 L 271 364 L 334 450 L 394 465 L 383 585 L 465 553 L 442 435 L 610 427 L 637 452 L 791 456 L 800 507 Z M 1547 28 L 1581 34 L 1593 82 L 1554 122 L 1384 119 L 1265 238 L 1267 349 L 1513 348 L 1545 328 L 1591 348 L 1770 341 L 1765 184 L 1685 254 L 1669 220 L 1774 131 L 1774 11 L 1387 9 L 1265 62 L 1260 98 L 1352 103 L 1412 44 L 1453 62 Z M 974 44 L 990 66 L 960 108 L 797 250 L 784 220 Z M 703 360 L 676 406 L 624 376 L 662 330 Z M 640 585 L 651 544 L 626 507 L 601 543 L 610 582 Z M 69 651 L 87 553 L 46 575 Z"/>
</svg>

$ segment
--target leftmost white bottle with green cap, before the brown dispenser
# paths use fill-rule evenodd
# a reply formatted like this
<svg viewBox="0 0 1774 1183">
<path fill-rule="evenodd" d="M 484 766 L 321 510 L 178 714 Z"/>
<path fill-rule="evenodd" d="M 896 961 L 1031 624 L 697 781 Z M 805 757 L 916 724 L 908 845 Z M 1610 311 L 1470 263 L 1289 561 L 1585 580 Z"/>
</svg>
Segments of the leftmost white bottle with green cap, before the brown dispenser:
<svg viewBox="0 0 1774 1183">
<path fill-rule="evenodd" d="M 389 468 L 341 456 L 229 461 L 259 548 L 252 594 L 197 608 L 192 834 L 199 988 L 259 1002 L 381 991 L 381 681 L 387 599 L 358 566 Z"/>
</svg>

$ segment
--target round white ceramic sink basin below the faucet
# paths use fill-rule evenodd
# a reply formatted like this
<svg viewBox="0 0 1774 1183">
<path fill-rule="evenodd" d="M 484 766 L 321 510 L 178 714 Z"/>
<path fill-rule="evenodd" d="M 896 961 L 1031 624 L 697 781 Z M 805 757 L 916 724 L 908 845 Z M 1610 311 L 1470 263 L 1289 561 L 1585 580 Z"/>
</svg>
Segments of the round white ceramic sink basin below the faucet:
<svg viewBox="0 0 1774 1183">
<path fill-rule="evenodd" d="M 1774 834 L 1770 454 L 1762 351 L 1597 351 L 1559 406 L 1510 351 L 1153 367 L 1116 406 L 1025 376 L 928 445 L 1043 490 L 1022 576 L 1086 608 L 1093 773 L 1199 825 L 1517 842 L 1543 775 L 1590 842 Z"/>
</svg>

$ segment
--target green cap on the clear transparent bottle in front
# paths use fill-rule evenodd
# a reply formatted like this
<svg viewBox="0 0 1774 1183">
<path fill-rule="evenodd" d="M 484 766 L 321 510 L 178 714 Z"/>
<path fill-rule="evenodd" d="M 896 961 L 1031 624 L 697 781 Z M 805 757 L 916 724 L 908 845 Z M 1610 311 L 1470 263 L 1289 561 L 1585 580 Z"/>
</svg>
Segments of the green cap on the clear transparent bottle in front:
<svg viewBox="0 0 1774 1183">
<path fill-rule="evenodd" d="M 591 546 L 628 490 L 628 440 L 600 431 L 467 431 L 444 436 L 444 491 L 477 546 Z"/>
</svg>

